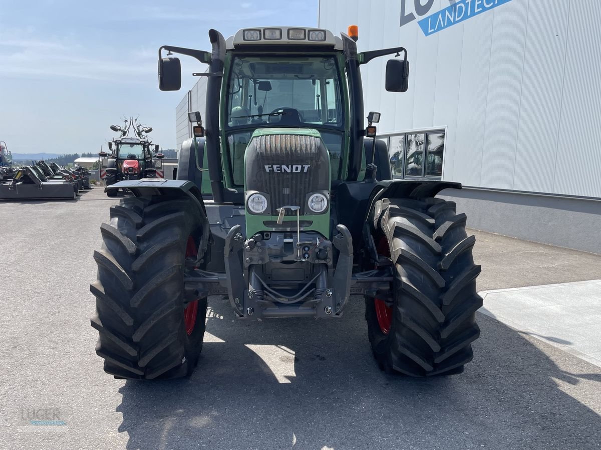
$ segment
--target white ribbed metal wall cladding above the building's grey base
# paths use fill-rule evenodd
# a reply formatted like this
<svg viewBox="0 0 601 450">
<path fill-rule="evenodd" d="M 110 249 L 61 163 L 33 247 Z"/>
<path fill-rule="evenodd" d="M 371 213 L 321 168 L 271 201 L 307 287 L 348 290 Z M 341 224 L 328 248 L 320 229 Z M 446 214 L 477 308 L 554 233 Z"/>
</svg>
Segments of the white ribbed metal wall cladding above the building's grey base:
<svg viewBox="0 0 601 450">
<path fill-rule="evenodd" d="M 447 5 L 435 0 L 429 14 Z M 382 133 L 448 127 L 445 179 L 601 197 L 597 2 L 512 0 L 428 37 L 400 16 L 400 0 L 320 2 L 322 28 L 359 25 L 360 51 L 409 51 L 404 94 L 383 89 L 388 58 L 362 67 L 365 108 L 382 112 Z"/>
</svg>

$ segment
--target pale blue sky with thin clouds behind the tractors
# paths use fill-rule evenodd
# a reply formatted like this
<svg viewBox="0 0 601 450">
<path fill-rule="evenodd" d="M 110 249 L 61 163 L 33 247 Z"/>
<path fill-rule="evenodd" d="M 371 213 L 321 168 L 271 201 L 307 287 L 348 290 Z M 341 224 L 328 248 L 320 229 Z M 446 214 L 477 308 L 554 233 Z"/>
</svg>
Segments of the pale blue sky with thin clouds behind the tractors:
<svg viewBox="0 0 601 450">
<path fill-rule="evenodd" d="M 175 106 L 204 70 L 182 57 L 182 91 L 160 92 L 157 50 L 210 50 L 264 25 L 317 25 L 318 0 L 0 0 L 0 140 L 15 153 L 106 149 L 120 117 L 151 125 L 153 142 L 175 146 Z"/>
</svg>

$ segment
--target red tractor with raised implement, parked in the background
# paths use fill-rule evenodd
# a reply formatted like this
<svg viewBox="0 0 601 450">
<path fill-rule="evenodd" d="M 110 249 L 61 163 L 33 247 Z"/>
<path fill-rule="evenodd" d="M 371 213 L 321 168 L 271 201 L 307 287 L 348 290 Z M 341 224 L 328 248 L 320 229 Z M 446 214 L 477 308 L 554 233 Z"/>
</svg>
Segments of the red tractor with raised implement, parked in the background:
<svg viewBox="0 0 601 450">
<path fill-rule="evenodd" d="M 109 142 L 109 152 L 98 152 L 101 159 L 100 178 L 107 186 L 121 180 L 142 178 L 163 178 L 165 157 L 159 153 L 159 146 L 153 145 L 147 134 L 151 127 L 142 127 L 137 119 L 124 119 L 126 125 L 111 125 L 111 130 L 119 133 Z M 154 152 L 152 149 L 154 148 Z M 109 197 L 115 197 L 118 189 L 106 191 Z"/>
</svg>

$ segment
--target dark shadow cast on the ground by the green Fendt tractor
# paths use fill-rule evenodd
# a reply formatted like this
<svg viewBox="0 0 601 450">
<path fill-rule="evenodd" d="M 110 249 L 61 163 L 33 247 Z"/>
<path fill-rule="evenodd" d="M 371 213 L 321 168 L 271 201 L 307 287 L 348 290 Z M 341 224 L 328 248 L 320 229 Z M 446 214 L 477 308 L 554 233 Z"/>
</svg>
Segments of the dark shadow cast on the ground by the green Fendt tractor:
<svg viewBox="0 0 601 450">
<path fill-rule="evenodd" d="M 127 448 L 521 449 L 600 442 L 601 416 L 573 394 L 598 392 L 601 369 L 570 359 L 579 373 L 562 370 L 538 343 L 478 314 L 482 335 L 465 373 L 426 380 L 386 375 L 371 355 L 362 299 L 351 301 L 340 320 L 243 322 L 227 300 L 209 299 L 194 375 L 128 381 L 120 389 L 118 431 L 128 433 Z M 581 397 L 601 409 L 599 396 Z"/>
</svg>

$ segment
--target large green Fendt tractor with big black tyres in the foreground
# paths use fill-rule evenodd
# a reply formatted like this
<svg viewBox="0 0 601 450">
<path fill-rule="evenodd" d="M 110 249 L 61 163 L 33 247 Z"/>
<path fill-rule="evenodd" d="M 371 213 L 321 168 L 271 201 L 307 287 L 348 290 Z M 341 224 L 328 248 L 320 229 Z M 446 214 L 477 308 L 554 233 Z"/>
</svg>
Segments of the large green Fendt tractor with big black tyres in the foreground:
<svg viewBox="0 0 601 450">
<path fill-rule="evenodd" d="M 379 113 L 364 124 L 360 67 L 394 55 L 385 88 L 404 92 L 407 52 L 359 53 L 356 38 L 281 26 L 225 40 L 212 29 L 210 52 L 160 47 L 162 91 L 181 86 L 173 53 L 208 65 L 195 74 L 208 77 L 205 122 L 189 114 L 177 179 L 106 188 L 133 193 L 111 208 L 94 252 L 91 323 L 107 373 L 191 374 L 210 295 L 263 320 L 338 319 L 362 296 L 382 370 L 450 375 L 471 361 L 475 238 L 455 203 L 435 197 L 461 185 L 392 179 Z"/>
</svg>

